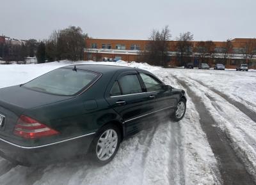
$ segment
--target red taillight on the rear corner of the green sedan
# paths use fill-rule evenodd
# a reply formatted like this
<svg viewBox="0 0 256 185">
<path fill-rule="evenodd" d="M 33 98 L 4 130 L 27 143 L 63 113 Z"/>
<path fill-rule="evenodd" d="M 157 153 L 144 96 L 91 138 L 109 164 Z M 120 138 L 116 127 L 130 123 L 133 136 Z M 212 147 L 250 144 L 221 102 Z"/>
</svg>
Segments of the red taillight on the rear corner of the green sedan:
<svg viewBox="0 0 256 185">
<path fill-rule="evenodd" d="M 59 134 L 58 131 L 26 115 L 20 116 L 13 133 L 24 138 L 40 138 Z"/>
</svg>

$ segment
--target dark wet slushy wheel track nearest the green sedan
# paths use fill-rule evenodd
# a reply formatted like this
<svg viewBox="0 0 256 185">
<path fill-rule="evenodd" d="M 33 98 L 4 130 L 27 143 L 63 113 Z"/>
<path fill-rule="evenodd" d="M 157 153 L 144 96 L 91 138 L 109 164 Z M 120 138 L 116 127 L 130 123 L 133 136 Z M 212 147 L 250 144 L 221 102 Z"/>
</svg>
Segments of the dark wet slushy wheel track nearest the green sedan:
<svg viewBox="0 0 256 185">
<path fill-rule="evenodd" d="M 218 159 L 221 177 L 224 184 L 255 184 L 246 168 L 233 151 L 228 137 L 221 129 L 215 126 L 215 121 L 204 105 L 204 100 L 196 96 L 185 81 L 176 76 L 173 77 L 185 87 L 186 92 L 191 97 L 193 103 L 200 114 L 202 129 L 207 135 L 214 155 Z"/>
</svg>

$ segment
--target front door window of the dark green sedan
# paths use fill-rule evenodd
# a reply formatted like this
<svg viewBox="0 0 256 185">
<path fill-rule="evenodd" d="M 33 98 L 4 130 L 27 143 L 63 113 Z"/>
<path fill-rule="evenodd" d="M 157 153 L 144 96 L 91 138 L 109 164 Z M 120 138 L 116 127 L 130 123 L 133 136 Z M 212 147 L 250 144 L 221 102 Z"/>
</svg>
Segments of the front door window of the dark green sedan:
<svg viewBox="0 0 256 185">
<path fill-rule="evenodd" d="M 147 88 L 147 91 L 162 91 L 162 83 L 156 80 L 154 77 L 147 75 L 145 73 L 140 73 L 140 76 Z"/>
</svg>

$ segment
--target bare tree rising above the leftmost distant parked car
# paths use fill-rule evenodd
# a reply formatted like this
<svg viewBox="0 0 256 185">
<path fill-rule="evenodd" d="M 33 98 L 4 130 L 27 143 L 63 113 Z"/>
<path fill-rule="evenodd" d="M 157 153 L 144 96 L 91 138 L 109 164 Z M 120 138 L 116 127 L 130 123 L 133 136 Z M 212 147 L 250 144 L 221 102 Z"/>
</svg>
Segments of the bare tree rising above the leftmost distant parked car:
<svg viewBox="0 0 256 185">
<path fill-rule="evenodd" d="M 191 41 L 193 40 L 193 34 L 191 34 L 189 31 L 186 33 L 180 33 L 177 40 L 176 48 L 178 51 L 177 56 L 179 57 L 180 65 L 186 65 L 184 59 L 191 56 Z"/>
</svg>

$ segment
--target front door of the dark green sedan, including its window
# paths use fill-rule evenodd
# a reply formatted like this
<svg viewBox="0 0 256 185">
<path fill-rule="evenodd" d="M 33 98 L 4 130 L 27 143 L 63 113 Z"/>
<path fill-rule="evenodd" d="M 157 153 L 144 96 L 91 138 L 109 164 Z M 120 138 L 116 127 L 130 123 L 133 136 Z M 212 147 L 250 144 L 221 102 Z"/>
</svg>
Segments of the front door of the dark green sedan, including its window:
<svg viewBox="0 0 256 185">
<path fill-rule="evenodd" d="M 173 96 L 172 90 L 164 89 L 165 84 L 151 73 L 147 71 L 139 71 L 139 73 L 147 94 L 151 97 L 148 105 L 154 107 L 157 116 L 166 113 L 170 115 L 177 104 L 177 98 Z"/>
</svg>

